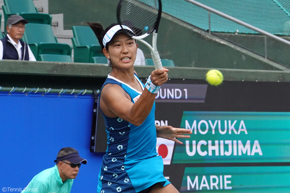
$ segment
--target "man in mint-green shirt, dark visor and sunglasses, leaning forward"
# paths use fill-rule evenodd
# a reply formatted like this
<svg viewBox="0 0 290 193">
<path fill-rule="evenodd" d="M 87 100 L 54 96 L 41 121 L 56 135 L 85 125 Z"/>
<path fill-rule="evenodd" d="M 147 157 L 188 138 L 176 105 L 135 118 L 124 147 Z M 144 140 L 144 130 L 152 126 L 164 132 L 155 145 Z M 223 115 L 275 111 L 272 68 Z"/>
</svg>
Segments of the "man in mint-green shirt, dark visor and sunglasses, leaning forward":
<svg viewBox="0 0 290 193">
<path fill-rule="evenodd" d="M 87 160 L 81 158 L 74 148 L 64 147 L 54 162 L 57 162 L 54 167 L 34 176 L 21 193 L 70 193 L 81 163 L 86 164 Z"/>
</svg>

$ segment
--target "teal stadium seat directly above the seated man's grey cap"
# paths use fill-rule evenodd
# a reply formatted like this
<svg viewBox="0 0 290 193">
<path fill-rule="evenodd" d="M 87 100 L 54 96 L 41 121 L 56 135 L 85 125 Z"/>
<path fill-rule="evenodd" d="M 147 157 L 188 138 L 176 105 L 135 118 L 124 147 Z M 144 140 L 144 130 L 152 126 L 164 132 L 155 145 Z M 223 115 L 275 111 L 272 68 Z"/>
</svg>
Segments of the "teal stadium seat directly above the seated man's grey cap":
<svg viewBox="0 0 290 193">
<path fill-rule="evenodd" d="M 29 23 L 51 25 L 51 15 L 38 13 L 38 10 L 34 7 L 32 0 L 4 0 L 2 10 L 4 13 L 4 26 L 6 26 L 8 17 L 14 14 L 21 15 Z M 4 29 L 6 32 L 6 28 Z"/>
</svg>

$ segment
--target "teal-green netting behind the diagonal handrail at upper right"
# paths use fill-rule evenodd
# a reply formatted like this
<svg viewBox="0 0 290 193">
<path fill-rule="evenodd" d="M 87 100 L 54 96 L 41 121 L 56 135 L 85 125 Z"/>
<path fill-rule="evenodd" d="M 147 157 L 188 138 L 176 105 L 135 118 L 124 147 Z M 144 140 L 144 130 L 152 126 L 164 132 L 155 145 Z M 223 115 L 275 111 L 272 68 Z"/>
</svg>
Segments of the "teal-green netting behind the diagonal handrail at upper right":
<svg viewBox="0 0 290 193">
<path fill-rule="evenodd" d="M 272 34 L 290 34 L 290 0 L 198 0 L 198 2 Z M 208 30 L 208 11 L 184 0 L 162 0 L 162 11 Z M 211 13 L 211 31 L 257 33 Z"/>
</svg>

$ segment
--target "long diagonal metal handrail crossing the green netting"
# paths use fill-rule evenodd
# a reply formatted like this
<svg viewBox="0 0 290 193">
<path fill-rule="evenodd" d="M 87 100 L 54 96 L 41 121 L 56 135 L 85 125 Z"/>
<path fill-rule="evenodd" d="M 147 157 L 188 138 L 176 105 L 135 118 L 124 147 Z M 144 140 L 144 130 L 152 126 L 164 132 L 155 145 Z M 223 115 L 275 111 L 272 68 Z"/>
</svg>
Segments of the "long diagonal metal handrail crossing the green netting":
<svg viewBox="0 0 290 193">
<path fill-rule="evenodd" d="M 266 32 L 266 31 L 264 31 L 264 30 L 262 30 L 262 29 L 256 28 L 256 27 L 254 27 L 254 26 L 252 26 L 252 25 L 250 25 L 250 24 L 247 24 L 247 23 L 245 23 L 245 22 L 243 22 L 243 21 L 241 21 L 241 20 L 238 20 L 238 19 L 236 19 L 236 18 L 234 18 L 234 17 L 232 17 L 232 16 L 229 16 L 229 15 L 227 15 L 227 14 L 224 14 L 224 13 L 222 13 L 222 12 L 220 12 L 220 11 L 217 11 L 217 10 L 211 8 L 211 7 L 208 7 L 208 6 L 206 6 L 206 5 L 203 5 L 203 4 L 201 4 L 201 3 L 199 3 L 199 2 L 196 2 L 196 1 L 194 1 L 194 0 L 185 0 L 185 1 L 190 2 L 190 3 L 192 3 L 192 4 L 194 4 L 194 5 L 198 6 L 198 7 L 202 7 L 203 9 L 206 9 L 207 11 L 211 11 L 211 12 L 213 12 L 213 13 L 215 13 L 215 14 L 217 14 L 217 15 L 220 15 L 220 16 L 222 16 L 222 17 L 228 19 L 228 20 L 231 20 L 231 21 L 233 21 L 233 22 L 235 22 L 235 23 L 237 23 L 237 24 L 240 24 L 240 25 L 245 26 L 245 27 L 247 27 L 247 28 L 249 28 L 249 29 L 252 29 L 252 30 L 254 30 L 254 31 L 256 31 L 256 32 L 259 32 L 259 33 L 261 33 L 261 34 L 263 34 L 263 35 L 265 35 L 265 36 L 272 37 L 272 38 L 274 38 L 274 39 L 276 39 L 276 40 L 278 40 L 278 41 L 280 41 L 280 42 L 283 42 L 283 43 L 285 43 L 285 44 L 288 44 L 288 45 L 290 46 L 290 42 L 287 41 L 287 40 L 284 40 L 284 39 L 281 38 L 281 37 L 275 36 L 275 35 L 273 35 L 273 34 L 271 34 L 271 33 L 268 33 L 268 32 Z"/>
</svg>

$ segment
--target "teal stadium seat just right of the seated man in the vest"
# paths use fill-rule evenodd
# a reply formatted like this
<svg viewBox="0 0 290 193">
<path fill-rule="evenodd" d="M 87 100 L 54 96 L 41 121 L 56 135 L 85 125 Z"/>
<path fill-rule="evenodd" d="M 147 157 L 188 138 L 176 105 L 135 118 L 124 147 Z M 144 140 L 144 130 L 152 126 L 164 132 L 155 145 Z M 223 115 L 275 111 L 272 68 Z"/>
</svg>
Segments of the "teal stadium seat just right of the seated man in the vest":
<svg viewBox="0 0 290 193">
<path fill-rule="evenodd" d="M 71 56 L 71 46 L 57 43 L 57 38 L 54 37 L 51 26 L 48 24 L 26 24 L 22 39 L 29 45 L 37 60 L 40 60 L 40 54 Z"/>
</svg>

